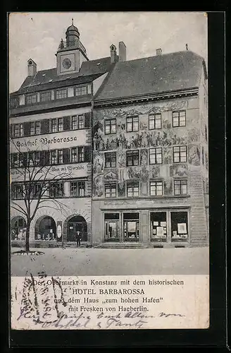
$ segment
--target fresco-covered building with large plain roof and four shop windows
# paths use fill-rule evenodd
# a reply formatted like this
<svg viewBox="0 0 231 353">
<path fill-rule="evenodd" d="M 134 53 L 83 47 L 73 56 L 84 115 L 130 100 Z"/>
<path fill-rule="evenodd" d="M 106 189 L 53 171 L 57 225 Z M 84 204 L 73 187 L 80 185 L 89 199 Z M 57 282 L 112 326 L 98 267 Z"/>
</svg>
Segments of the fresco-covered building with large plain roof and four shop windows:
<svg viewBox="0 0 231 353">
<path fill-rule="evenodd" d="M 206 80 L 188 51 L 116 65 L 94 99 L 94 245 L 208 244 Z"/>
</svg>

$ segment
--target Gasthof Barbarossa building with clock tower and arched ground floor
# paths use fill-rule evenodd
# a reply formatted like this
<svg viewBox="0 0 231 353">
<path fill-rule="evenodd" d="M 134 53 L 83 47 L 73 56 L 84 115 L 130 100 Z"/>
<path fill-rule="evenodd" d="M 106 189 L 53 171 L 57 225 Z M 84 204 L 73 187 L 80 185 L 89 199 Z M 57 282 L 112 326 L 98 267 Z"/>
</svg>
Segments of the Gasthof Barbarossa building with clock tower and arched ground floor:
<svg viewBox="0 0 231 353">
<path fill-rule="evenodd" d="M 92 98 L 111 68 L 111 56 L 89 61 L 72 24 L 59 44 L 56 68 L 37 71 L 10 97 L 11 241 L 24 246 L 26 188 L 31 192 L 30 246 L 92 243 Z M 39 171 L 39 172 L 38 172 Z M 35 177 L 36 174 L 36 177 Z M 39 191 L 46 191 L 38 203 Z M 39 206 L 39 207 L 38 207 Z"/>
</svg>

